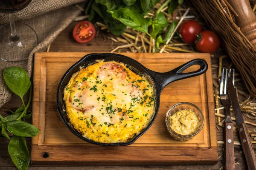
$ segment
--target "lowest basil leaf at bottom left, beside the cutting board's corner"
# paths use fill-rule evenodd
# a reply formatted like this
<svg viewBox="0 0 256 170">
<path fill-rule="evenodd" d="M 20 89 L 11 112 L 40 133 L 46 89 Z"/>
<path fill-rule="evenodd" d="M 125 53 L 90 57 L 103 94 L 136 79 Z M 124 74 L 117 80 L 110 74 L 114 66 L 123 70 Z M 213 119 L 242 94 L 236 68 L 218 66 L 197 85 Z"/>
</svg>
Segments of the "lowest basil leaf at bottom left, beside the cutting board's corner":
<svg viewBox="0 0 256 170">
<path fill-rule="evenodd" d="M 13 135 L 8 145 L 8 152 L 19 170 L 28 169 L 30 156 L 24 137 Z"/>
</svg>

